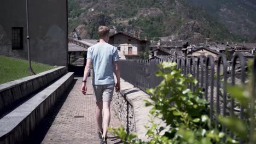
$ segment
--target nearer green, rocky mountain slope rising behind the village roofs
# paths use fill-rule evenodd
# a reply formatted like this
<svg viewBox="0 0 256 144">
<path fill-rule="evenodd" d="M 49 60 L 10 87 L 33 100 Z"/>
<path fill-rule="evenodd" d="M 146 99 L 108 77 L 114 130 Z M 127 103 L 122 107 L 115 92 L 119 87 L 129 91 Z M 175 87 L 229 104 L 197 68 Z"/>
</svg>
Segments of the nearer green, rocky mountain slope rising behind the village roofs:
<svg viewBox="0 0 256 144">
<path fill-rule="evenodd" d="M 77 25 L 69 25 L 69 32 L 78 26 L 82 38 L 97 38 L 96 30 L 101 23 L 117 28 L 117 31 L 135 33 L 149 39 L 168 37 L 172 40 L 189 40 L 190 43 L 201 43 L 206 38 L 214 41 L 242 40 L 230 34 L 206 10 L 192 7 L 183 0 L 71 1 L 77 3 L 77 8 L 70 9 L 72 15 L 69 15 L 69 23 L 76 21 Z M 94 11 L 91 11 L 92 8 Z"/>
</svg>

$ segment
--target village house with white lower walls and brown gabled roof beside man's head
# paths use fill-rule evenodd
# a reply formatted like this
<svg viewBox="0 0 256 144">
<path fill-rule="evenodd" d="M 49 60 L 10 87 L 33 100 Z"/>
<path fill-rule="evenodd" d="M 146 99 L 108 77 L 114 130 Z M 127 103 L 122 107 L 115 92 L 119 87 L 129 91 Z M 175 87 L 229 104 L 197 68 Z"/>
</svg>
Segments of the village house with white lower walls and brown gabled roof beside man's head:
<svg viewBox="0 0 256 144">
<path fill-rule="evenodd" d="M 109 44 L 116 46 L 120 59 L 139 59 L 141 52 L 148 48 L 147 38 L 141 39 L 135 35 L 125 32 L 118 32 L 110 35 Z"/>
</svg>

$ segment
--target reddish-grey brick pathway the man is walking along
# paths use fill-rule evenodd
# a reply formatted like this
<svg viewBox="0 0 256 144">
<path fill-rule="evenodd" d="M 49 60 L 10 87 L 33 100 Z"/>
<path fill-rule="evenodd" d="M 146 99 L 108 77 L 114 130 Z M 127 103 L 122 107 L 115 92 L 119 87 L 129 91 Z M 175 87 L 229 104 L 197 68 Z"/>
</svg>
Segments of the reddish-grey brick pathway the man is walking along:
<svg viewBox="0 0 256 144">
<path fill-rule="evenodd" d="M 75 83 L 68 94 L 48 133 L 42 143 L 100 143 L 97 135 L 95 118 L 95 102 L 91 86 L 91 77 L 88 79 L 88 93 L 80 92 L 82 77 Z M 111 111 L 110 126 L 120 127 L 120 122 Z M 108 143 L 121 143 L 120 139 L 108 133 Z"/>
</svg>

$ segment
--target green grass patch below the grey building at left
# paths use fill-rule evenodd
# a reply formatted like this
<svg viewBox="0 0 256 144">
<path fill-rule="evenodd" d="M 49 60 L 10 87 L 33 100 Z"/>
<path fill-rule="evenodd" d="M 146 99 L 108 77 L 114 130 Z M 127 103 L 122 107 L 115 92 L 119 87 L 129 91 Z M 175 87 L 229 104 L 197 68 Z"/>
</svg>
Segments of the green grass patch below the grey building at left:
<svg viewBox="0 0 256 144">
<path fill-rule="evenodd" d="M 34 73 L 42 73 L 43 71 L 53 69 L 51 65 L 31 62 Z M 28 73 L 28 61 L 18 58 L 0 56 L 0 84 L 18 80 L 22 77 L 30 76 Z"/>
</svg>

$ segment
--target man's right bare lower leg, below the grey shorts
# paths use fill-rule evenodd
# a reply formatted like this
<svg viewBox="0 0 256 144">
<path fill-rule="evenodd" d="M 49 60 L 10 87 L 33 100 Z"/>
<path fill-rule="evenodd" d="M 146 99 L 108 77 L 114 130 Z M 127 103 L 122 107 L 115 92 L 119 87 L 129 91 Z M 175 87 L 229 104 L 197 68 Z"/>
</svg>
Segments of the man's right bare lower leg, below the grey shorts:
<svg viewBox="0 0 256 144">
<path fill-rule="evenodd" d="M 109 127 L 109 122 L 110 122 L 110 101 L 105 102 L 103 101 L 103 134 L 102 137 L 107 136 L 107 128 Z"/>
</svg>

